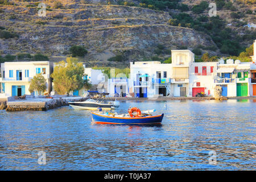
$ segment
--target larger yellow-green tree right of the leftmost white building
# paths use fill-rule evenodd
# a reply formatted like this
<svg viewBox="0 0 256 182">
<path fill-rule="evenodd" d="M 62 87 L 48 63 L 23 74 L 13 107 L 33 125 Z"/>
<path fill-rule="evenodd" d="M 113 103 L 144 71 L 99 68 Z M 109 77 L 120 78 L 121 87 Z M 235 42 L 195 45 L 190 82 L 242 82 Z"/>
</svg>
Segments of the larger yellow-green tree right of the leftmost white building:
<svg viewBox="0 0 256 182">
<path fill-rule="evenodd" d="M 72 59 L 67 62 L 60 61 L 51 75 L 53 78 L 53 88 L 59 94 L 68 94 L 73 90 L 80 90 L 84 86 L 84 67 L 82 63 L 76 63 Z"/>
</svg>

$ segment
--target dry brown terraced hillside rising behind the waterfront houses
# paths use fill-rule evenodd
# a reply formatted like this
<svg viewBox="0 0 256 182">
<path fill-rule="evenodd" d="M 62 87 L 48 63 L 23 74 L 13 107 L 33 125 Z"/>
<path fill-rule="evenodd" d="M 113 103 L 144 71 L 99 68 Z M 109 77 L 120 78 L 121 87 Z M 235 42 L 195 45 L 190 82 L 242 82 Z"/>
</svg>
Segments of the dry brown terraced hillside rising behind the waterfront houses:
<svg viewBox="0 0 256 182">
<path fill-rule="evenodd" d="M 102 66 L 127 65 L 129 61 L 139 60 L 164 60 L 170 57 L 171 49 L 179 48 L 200 48 L 199 56 L 204 52 L 229 55 L 221 52 L 223 45 L 218 45 L 211 34 L 192 26 L 171 24 L 169 20 L 175 18 L 172 16 L 184 13 L 181 10 L 160 11 L 139 7 L 138 3 L 142 1 L 129 1 L 134 2 L 134 6 L 118 5 L 117 1 L 111 1 L 110 5 L 98 0 L 61 1 L 63 7 L 58 8 L 54 1 L 45 1 L 47 14 L 40 17 L 37 2 L 41 1 L 9 1 L 0 5 L 0 26 L 16 35 L 14 38 L 0 39 L 2 55 L 43 53 L 52 61 L 59 61 L 69 55 L 71 46 L 81 45 L 88 50 L 84 60 L 90 65 Z M 193 18 L 199 16 L 191 9 L 200 1 L 181 0 L 179 3 L 188 5 L 186 14 Z M 245 11 L 252 8 L 255 6 L 243 5 Z M 218 11 L 218 15 L 226 20 L 226 24 L 232 23 L 226 11 L 230 10 Z M 208 11 L 204 14 L 208 14 Z M 255 14 L 246 15 L 245 20 L 255 23 Z M 249 28 L 237 27 L 236 24 L 229 27 L 241 36 L 246 35 L 247 31 L 251 32 Z M 241 46 L 248 47 L 252 42 L 250 39 L 242 40 Z M 122 60 L 107 61 L 115 56 L 122 57 Z"/>
</svg>

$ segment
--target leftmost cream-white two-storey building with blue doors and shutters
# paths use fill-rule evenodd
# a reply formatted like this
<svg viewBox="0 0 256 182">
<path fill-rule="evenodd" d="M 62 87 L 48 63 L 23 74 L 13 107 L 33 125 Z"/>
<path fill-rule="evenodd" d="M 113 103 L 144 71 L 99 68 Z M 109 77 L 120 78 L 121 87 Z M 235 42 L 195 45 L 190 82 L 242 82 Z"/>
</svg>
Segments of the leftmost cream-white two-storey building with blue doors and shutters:
<svg viewBox="0 0 256 182">
<path fill-rule="evenodd" d="M 30 95 L 31 79 L 38 73 L 46 78 L 46 93 L 51 92 L 51 73 L 53 64 L 49 61 L 11 61 L 1 63 L 0 97 Z M 32 93 L 38 95 L 38 92 Z"/>
</svg>

